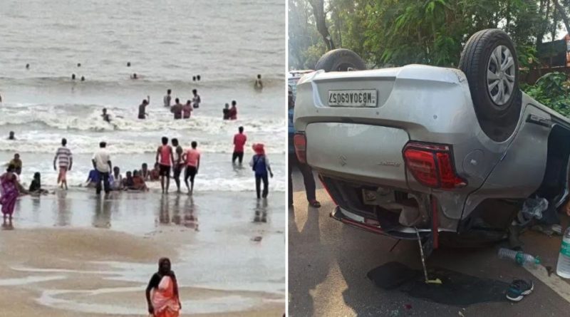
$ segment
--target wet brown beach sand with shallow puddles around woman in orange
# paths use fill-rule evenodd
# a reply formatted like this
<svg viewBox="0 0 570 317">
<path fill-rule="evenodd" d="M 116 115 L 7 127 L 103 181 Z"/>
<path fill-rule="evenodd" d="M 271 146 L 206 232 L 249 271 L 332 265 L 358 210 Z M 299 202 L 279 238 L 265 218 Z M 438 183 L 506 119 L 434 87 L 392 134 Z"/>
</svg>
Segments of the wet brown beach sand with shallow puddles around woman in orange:
<svg viewBox="0 0 570 317">
<path fill-rule="evenodd" d="M 281 316 L 284 222 L 281 192 L 22 197 L 0 232 L 0 316 L 147 316 L 161 256 L 182 316 Z"/>
</svg>

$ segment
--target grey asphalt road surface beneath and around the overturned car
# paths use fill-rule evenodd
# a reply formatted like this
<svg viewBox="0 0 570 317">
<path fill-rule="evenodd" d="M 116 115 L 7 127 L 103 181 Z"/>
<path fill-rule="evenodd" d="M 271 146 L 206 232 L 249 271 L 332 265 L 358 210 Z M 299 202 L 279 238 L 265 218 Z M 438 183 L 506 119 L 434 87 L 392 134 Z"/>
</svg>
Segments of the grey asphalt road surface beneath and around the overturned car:
<svg viewBox="0 0 570 317">
<path fill-rule="evenodd" d="M 309 207 L 303 179 L 294 172 L 294 207 L 289 207 L 289 316 L 570 316 L 570 303 L 529 271 L 498 259 L 498 246 L 484 249 L 438 249 L 427 260 L 472 276 L 510 283 L 532 279 L 534 292 L 519 303 L 509 301 L 449 306 L 402 291 L 375 286 L 366 274 L 389 261 L 421 268 L 418 244 L 347 227 L 328 215 L 335 205 L 318 187 L 320 209 Z M 564 218 L 563 223 L 568 223 Z M 564 227 L 564 226 L 563 226 Z M 561 237 L 525 232 L 524 251 L 556 268 Z M 559 279 L 552 276 L 551 279 Z M 570 285 L 563 282 L 564 287 Z"/>
</svg>

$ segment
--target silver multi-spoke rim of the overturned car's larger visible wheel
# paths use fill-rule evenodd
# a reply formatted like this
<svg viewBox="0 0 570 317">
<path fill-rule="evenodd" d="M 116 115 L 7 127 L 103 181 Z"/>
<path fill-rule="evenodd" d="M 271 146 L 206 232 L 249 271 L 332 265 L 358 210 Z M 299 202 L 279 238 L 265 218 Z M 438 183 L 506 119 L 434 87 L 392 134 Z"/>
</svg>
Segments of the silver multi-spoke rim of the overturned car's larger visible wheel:
<svg viewBox="0 0 570 317">
<path fill-rule="evenodd" d="M 487 64 L 487 92 L 496 105 L 509 101 L 514 90 L 514 56 L 507 46 L 497 46 Z"/>
</svg>

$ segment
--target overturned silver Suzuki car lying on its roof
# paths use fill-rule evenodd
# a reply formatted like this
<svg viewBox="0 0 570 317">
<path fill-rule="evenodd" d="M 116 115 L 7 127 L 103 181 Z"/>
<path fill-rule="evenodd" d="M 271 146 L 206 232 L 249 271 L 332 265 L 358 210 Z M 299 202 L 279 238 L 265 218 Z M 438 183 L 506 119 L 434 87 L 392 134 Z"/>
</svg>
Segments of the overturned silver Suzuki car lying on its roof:
<svg viewBox="0 0 570 317">
<path fill-rule="evenodd" d="M 515 54 L 499 29 L 470 38 L 460 69 L 326 53 L 297 83 L 294 144 L 331 217 L 437 248 L 504 239 L 529 197 L 564 204 L 570 120 L 522 93 Z"/>
</svg>

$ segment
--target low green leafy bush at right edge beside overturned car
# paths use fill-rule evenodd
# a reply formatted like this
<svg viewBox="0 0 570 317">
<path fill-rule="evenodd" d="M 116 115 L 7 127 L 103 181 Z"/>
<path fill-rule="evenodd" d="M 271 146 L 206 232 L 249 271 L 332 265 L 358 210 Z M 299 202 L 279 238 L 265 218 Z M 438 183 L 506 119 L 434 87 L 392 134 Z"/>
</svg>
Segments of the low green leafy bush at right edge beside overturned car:
<svg viewBox="0 0 570 317">
<path fill-rule="evenodd" d="M 565 73 L 547 73 L 534 85 L 522 89 L 539 103 L 570 118 L 570 78 Z"/>
</svg>

